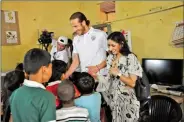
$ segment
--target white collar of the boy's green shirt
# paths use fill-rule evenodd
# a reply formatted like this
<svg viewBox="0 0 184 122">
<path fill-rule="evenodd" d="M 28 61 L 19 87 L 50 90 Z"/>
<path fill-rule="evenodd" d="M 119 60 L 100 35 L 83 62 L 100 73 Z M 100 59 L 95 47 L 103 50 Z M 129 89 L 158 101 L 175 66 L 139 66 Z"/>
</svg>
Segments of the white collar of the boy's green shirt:
<svg viewBox="0 0 184 122">
<path fill-rule="evenodd" d="M 31 81 L 31 80 L 27 80 L 25 79 L 24 80 L 24 83 L 23 83 L 25 86 L 28 86 L 28 87 L 35 87 L 35 88 L 42 88 L 42 89 L 45 89 L 45 86 L 41 83 L 38 83 L 36 81 Z"/>
</svg>

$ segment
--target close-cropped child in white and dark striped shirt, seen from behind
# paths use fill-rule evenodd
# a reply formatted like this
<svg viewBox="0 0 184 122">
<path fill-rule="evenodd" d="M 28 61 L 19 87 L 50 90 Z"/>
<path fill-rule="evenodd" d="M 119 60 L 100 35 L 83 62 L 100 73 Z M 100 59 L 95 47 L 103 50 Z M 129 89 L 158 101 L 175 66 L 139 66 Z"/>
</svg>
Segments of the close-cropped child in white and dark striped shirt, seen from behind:
<svg viewBox="0 0 184 122">
<path fill-rule="evenodd" d="M 71 81 L 62 81 L 57 92 L 63 103 L 63 108 L 56 111 L 57 122 L 90 122 L 88 110 L 74 106 L 75 90 Z"/>
</svg>

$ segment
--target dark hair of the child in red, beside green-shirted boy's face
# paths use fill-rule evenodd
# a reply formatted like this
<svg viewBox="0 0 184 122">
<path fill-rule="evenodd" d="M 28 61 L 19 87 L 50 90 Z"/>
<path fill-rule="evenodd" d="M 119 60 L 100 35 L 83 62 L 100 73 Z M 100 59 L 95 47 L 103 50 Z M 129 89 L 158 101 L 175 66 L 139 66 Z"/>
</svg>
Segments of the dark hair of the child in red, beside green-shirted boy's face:
<svg viewBox="0 0 184 122">
<path fill-rule="evenodd" d="M 61 80 L 61 75 L 66 72 L 67 64 L 62 60 L 52 61 L 52 76 L 49 82 Z"/>
</svg>

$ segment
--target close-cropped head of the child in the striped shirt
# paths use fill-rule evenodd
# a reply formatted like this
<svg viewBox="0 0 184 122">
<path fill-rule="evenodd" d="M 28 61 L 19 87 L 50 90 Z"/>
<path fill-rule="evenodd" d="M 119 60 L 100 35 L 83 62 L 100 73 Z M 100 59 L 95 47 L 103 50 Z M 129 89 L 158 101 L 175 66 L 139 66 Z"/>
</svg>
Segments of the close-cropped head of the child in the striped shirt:
<svg viewBox="0 0 184 122">
<path fill-rule="evenodd" d="M 57 94 L 59 99 L 63 103 L 69 103 L 73 101 L 75 97 L 75 90 L 73 83 L 70 80 L 62 81 L 57 88 Z"/>
</svg>

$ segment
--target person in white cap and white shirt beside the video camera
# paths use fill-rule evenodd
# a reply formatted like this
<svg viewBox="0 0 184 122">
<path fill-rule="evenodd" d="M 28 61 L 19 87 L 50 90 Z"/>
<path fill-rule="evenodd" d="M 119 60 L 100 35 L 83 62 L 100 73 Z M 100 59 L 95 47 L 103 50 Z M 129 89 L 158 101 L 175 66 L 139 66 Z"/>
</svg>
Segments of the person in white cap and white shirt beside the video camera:
<svg viewBox="0 0 184 122">
<path fill-rule="evenodd" d="M 68 44 L 68 38 L 64 36 L 60 36 L 57 40 L 57 49 L 51 52 L 51 60 L 62 60 L 65 63 L 69 62 L 69 52 L 66 47 Z"/>
</svg>

